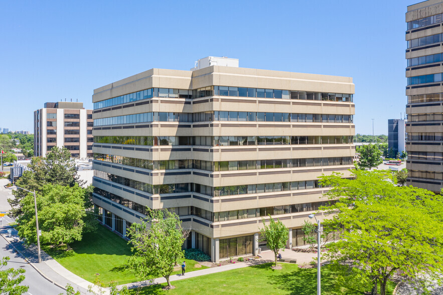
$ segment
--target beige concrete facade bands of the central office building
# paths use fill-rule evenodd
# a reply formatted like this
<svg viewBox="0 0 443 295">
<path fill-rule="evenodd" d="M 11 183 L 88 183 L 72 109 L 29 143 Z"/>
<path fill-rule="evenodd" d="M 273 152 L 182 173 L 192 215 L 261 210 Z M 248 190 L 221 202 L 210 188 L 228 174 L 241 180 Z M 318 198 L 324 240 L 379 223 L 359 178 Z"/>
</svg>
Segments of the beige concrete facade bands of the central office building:
<svg viewBox="0 0 443 295">
<path fill-rule="evenodd" d="M 209 87 L 211 90 L 208 91 L 210 92 L 198 96 L 199 89 L 205 87 Z M 269 95 L 274 96 L 272 98 L 245 97 L 241 96 L 240 92 L 237 92 L 238 95 L 236 96 L 219 95 L 222 92 L 220 90 L 217 93 L 218 87 L 270 89 L 274 90 L 274 94 Z M 146 99 L 134 99 L 133 101 L 108 106 L 98 104 L 105 104 L 104 101 L 111 98 L 118 98 L 119 96 L 151 88 L 154 88 L 153 93 L 156 88 L 160 88 L 160 91 L 157 90 L 158 92 L 161 92 L 161 89 L 170 89 L 171 91 L 172 89 L 192 90 L 193 96 L 192 98 L 159 97 L 160 95 L 155 96 L 153 94 L 152 97 Z M 240 241 L 241 237 L 253 236 L 252 245 L 248 244 L 246 249 L 249 249 L 250 246 L 252 252 L 256 253 L 259 247 L 258 231 L 262 217 L 265 217 L 260 215 L 260 212 L 263 211 L 260 208 L 273 208 L 266 210 L 277 212 L 279 206 L 284 207 L 286 208 L 284 213 L 280 212 L 281 214 L 273 214 L 272 216 L 278 217 L 288 228 L 300 228 L 307 216 L 316 211 L 313 208 L 317 205 L 314 204 L 327 201 L 322 195 L 327 191 L 327 188 L 311 186 L 317 180 L 317 177 L 333 172 L 343 173 L 344 177 L 349 176 L 348 169 L 353 168 L 351 159 L 355 155 L 355 147 L 352 143 L 352 137 L 355 134 L 355 126 L 352 123 L 352 116 L 355 113 L 355 105 L 352 102 L 354 90 L 352 78 L 349 77 L 221 66 L 210 66 L 195 71 L 151 69 L 95 89 L 92 96 L 94 102 L 93 153 L 95 158 L 93 169 L 96 170 L 93 180 L 96 193 L 93 200 L 101 208 L 103 222 L 113 230 L 125 235 L 126 226 L 129 223 L 137 222 L 140 217 L 144 216 L 142 210 L 134 205 L 135 203 L 139 204 L 140 207 L 147 206 L 154 209 L 173 208 L 171 210 L 178 210 L 179 213 L 180 210 L 186 210 L 184 208 L 189 207 L 192 208 L 190 210 L 193 210 L 190 214 L 179 214 L 183 220 L 183 226 L 192 230 L 187 246 L 201 248 L 211 255 L 213 261 L 218 261 L 226 257 L 222 254 L 224 253 L 222 245 L 227 241 L 226 239 L 240 237 L 238 238 L 238 241 Z M 305 92 L 319 93 L 318 97 L 323 93 L 324 97 L 329 97 L 329 100 L 290 99 L 290 97 L 284 99 L 277 97 L 280 95 L 280 91 L 283 91 L 283 95 L 284 93 L 293 95 L 293 93 L 299 91 L 302 94 L 298 97 L 304 97 L 303 93 Z M 328 96 L 328 94 L 330 95 Z M 348 101 L 344 101 L 344 98 L 341 101 L 338 98 L 334 101 L 330 100 L 331 97 L 339 96 L 350 97 L 350 99 Z M 307 121 L 303 122 L 277 122 L 275 121 L 277 115 L 275 115 L 273 117 L 274 121 L 259 121 L 258 119 L 245 121 L 240 119 L 228 121 L 213 119 L 198 122 L 153 120 L 150 122 L 96 124 L 100 119 L 117 116 L 127 117 L 133 114 L 160 114 L 164 112 L 195 114 L 209 112 L 213 115 L 225 111 L 253 113 L 257 114 L 257 118 L 258 113 L 264 112 L 284 113 L 286 115 L 287 113 L 289 115 L 303 114 L 303 116 L 314 114 L 314 117 L 318 115 L 318 118 L 322 115 L 325 115 L 325 117 L 330 115 L 335 116 L 335 121 L 326 121 L 322 117 L 322 120 L 317 119 L 317 121 L 306 119 Z M 341 119 L 344 117 L 349 117 L 349 121 Z M 240 115 L 238 118 L 240 118 Z M 260 145 L 258 143 L 260 137 L 278 137 L 280 135 L 290 137 L 290 144 L 284 142 L 281 144 L 280 141 L 278 141 L 278 144 L 272 145 Z M 112 139 L 113 141 L 111 140 L 112 142 L 103 139 L 110 136 L 115 136 Z M 152 137 L 154 143 L 145 145 L 130 144 L 134 143 L 130 141 L 131 138 L 125 138 L 126 141 L 121 143 L 122 141 L 118 141 L 120 140 L 118 139 L 119 136 Z M 200 138 L 200 136 L 204 136 L 202 138 L 209 138 L 207 140 L 210 140 L 211 144 L 156 144 L 156 138 L 160 142 L 162 136 L 174 138 L 182 138 L 183 136 Z M 214 143 L 218 142 L 216 141 L 217 138 L 233 136 L 256 137 L 257 143 L 231 145 L 230 141 L 229 145 L 222 145 L 221 139 L 220 144 Z M 299 138 L 297 136 L 300 139 L 297 139 Z M 305 137 L 308 138 L 307 141 L 302 141 L 305 140 Z M 343 141 L 340 139 L 345 137 L 346 139 L 343 139 Z M 310 141 L 311 138 L 313 138 L 313 141 Z M 240 142 L 240 139 L 238 140 Z M 277 142 L 280 139 L 275 138 L 274 140 Z M 293 144 L 293 140 L 300 140 L 297 141 L 300 143 Z M 324 144 L 325 142 L 326 144 Z M 110 160 L 116 159 L 116 157 L 119 157 L 118 159 L 142 159 L 154 163 L 154 169 L 143 169 L 137 165 L 134 167 L 131 166 L 132 164 L 126 165 L 123 162 Z M 290 167 L 283 167 L 278 162 L 279 159 L 289 159 L 293 163 L 294 161 L 303 162 L 304 159 L 336 158 L 340 159 L 340 163 L 334 162 L 331 165 L 332 162 L 329 162 L 329 165 L 323 165 L 324 162 L 322 162 L 321 165 L 310 167 L 293 167 L 293 164 Z M 211 163 L 212 170 L 198 169 L 195 163 L 193 167 L 184 169 L 156 168 L 156 163 L 172 160 L 206 161 Z M 258 166 L 256 166 L 257 169 L 251 169 L 250 167 L 254 166 L 248 164 L 248 169 L 240 169 L 240 162 L 249 161 L 249 163 L 252 163 L 266 160 L 277 162 L 273 162 L 275 166 L 272 166 L 272 168 L 266 166 L 258 169 Z M 218 168 L 214 169 L 214 165 L 225 162 L 229 162 L 229 165 L 237 165 L 235 162 L 238 162 L 238 169 L 234 167 L 231 170 L 231 166 L 226 171 L 221 171 L 221 168 L 220 170 Z M 122 180 L 123 178 L 127 180 Z M 128 180 L 153 185 L 154 191 L 138 190 Z M 279 189 L 280 184 L 284 186 L 288 183 L 291 185 L 290 189 Z M 295 185 L 298 183 L 299 189 L 293 189 L 294 183 Z M 161 187 L 167 184 L 189 184 L 189 191 L 180 193 L 159 193 L 155 191 L 156 186 Z M 266 192 L 259 191 L 258 185 L 260 184 L 274 184 L 273 191 L 268 191 L 267 187 Z M 206 186 L 210 193 L 198 192 L 194 189 L 196 186 Z M 253 186 L 252 189 L 250 189 L 251 186 Z M 229 187 L 229 195 L 223 195 L 222 189 L 218 192 L 220 187 Z M 237 192 L 237 187 L 239 193 L 231 194 L 231 192 Z M 242 193 L 243 187 L 248 188 L 248 193 Z M 208 189 L 206 192 L 208 192 Z M 287 212 L 287 208 L 291 205 L 293 208 L 303 207 L 306 210 L 297 209 L 297 212 Z M 134 210 L 134 208 L 138 208 L 138 210 Z M 206 215 L 196 213 L 200 210 L 207 211 Z M 240 212 L 248 211 L 248 214 L 250 214 L 254 210 L 256 210 L 254 216 L 248 215 L 247 218 L 240 218 L 240 214 L 246 214 Z M 234 212 L 232 214 L 238 215 L 237 218 L 231 219 L 231 213 L 229 213 L 230 217 L 227 220 L 222 220 L 223 212 Z M 235 217 L 235 215 L 232 216 Z M 292 245 L 291 235 L 292 232 L 289 236 L 288 247 Z M 205 244 L 202 247 L 199 238 L 204 244 L 208 243 L 208 245 Z M 229 251 L 228 253 L 233 253 Z M 242 253 L 237 252 L 236 254 L 240 255 Z"/>
</svg>

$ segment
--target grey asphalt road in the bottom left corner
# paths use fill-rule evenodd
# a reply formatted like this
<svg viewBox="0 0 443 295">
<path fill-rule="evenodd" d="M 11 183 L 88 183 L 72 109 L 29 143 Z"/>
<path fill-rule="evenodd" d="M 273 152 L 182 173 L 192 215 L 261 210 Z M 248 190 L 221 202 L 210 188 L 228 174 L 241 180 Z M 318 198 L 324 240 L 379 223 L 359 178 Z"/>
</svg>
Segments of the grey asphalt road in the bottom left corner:
<svg viewBox="0 0 443 295">
<path fill-rule="evenodd" d="M 8 242 L 0 236 L 0 257 L 9 256 L 11 259 L 8 261 L 8 268 L 24 268 L 26 270 L 25 280 L 21 283 L 23 285 L 28 285 L 29 289 L 26 295 L 57 295 L 60 293 L 65 293 L 65 291 L 52 284 L 50 281 L 45 279 L 40 275 L 25 259 L 15 252 L 14 248 L 8 244 Z M 5 269 L 7 266 L 3 266 Z"/>
</svg>

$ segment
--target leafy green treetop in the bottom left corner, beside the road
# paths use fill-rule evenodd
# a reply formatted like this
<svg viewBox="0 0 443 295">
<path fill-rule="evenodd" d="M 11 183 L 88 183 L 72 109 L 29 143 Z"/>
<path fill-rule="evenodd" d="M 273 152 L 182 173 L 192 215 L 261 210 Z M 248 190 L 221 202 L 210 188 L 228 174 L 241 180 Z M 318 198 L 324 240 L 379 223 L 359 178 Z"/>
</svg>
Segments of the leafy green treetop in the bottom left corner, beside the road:
<svg viewBox="0 0 443 295">
<path fill-rule="evenodd" d="M 29 286 L 20 285 L 25 279 L 25 269 L 23 268 L 7 268 L 2 269 L 8 265 L 10 257 L 3 257 L 0 262 L 0 294 L 21 295 L 28 291 Z"/>
</svg>

